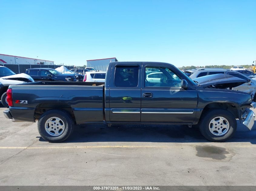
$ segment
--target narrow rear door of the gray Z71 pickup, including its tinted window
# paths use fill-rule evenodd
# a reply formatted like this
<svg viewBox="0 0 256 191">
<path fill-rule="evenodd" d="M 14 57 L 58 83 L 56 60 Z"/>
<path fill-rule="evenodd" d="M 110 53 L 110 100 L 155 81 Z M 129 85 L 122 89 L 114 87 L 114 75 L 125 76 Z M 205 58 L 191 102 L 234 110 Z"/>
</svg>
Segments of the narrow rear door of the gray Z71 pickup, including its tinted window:
<svg viewBox="0 0 256 191">
<path fill-rule="evenodd" d="M 111 122 L 140 122 L 141 65 L 137 62 L 113 65 L 109 88 Z"/>
</svg>

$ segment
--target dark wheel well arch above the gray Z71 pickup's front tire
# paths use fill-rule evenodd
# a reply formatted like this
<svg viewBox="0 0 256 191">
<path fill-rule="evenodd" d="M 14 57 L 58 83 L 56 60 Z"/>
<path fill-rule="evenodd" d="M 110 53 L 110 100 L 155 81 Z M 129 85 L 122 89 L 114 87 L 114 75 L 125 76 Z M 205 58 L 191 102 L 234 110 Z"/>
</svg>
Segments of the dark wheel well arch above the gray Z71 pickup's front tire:
<svg viewBox="0 0 256 191">
<path fill-rule="evenodd" d="M 240 112 L 240 107 L 237 104 L 234 103 L 227 103 L 227 102 L 214 102 L 214 103 L 209 103 L 207 104 L 202 113 L 201 116 L 207 112 L 208 110 L 211 109 L 224 109 L 232 113 L 236 119 L 241 120 L 241 112 Z M 201 117 L 200 117 L 201 118 Z"/>
</svg>

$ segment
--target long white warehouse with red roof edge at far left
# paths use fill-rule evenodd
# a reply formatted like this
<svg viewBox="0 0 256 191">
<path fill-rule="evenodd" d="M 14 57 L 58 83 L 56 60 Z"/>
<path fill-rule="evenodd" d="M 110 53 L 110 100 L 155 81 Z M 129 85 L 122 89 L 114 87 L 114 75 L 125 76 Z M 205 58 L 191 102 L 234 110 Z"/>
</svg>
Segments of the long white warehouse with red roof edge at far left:
<svg viewBox="0 0 256 191">
<path fill-rule="evenodd" d="M 49 60 L 41 60 L 41 59 L 35 59 L 35 58 L 27 58 L 27 57 L 21 57 L 21 56 L 0 54 L 0 64 L 54 65 L 54 62 L 49 61 Z"/>
</svg>

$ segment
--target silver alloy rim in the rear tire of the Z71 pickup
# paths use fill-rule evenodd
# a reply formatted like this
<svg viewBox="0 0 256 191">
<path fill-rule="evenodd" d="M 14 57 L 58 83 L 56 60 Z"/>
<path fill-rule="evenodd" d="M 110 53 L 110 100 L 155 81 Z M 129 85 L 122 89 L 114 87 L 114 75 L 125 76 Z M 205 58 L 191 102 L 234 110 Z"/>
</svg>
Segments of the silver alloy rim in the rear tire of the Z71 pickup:
<svg viewBox="0 0 256 191">
<path fill-rule="evenodd" d="M 45 122 L 45 131 L 52 136 L 59 136 L 64 132 L 65 125 L 62 119 L 58 117 L 50 117 Z"/>
</svg>

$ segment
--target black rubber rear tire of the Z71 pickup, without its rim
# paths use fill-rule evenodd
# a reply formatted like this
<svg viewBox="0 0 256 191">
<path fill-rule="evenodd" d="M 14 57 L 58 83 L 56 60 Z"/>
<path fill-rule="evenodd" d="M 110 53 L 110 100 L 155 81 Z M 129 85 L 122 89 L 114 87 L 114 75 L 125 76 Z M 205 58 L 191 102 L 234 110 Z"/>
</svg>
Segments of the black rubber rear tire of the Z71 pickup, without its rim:
<svg viewBox="0 0 256 191">
<path fill-rule="evenodd" d="M 65 128 L 61 135 L 53 136 L 48 134 L 45 129 L 46 122 L 51 117 L 58 117 L 62 120 Z M 62 142 L 65 141 L 73 132 L 74 129 L 74 121 L 69 115 L 68 112 L 65 110 L 48 110 L 40 117 L 38 124 L 37 124 L 38 132 L 48 142 Z"/>
</svg>

